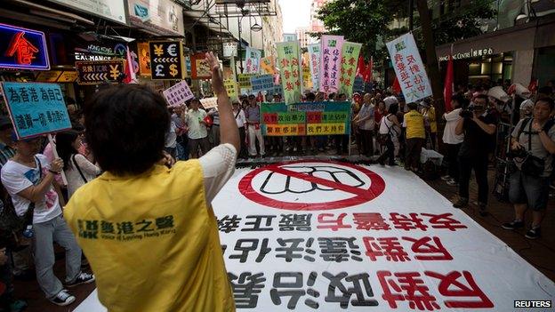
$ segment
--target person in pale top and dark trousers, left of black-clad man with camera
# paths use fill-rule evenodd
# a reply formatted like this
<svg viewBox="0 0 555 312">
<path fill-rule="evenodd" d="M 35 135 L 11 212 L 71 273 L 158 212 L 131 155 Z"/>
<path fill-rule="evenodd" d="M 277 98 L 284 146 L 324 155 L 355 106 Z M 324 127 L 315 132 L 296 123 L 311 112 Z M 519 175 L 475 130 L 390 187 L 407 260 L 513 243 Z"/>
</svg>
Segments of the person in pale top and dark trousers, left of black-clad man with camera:
<svg viewBox="0 0 555 312">
<path fill-rule="evenodd" d="M 443 115 L 443 119 L 446 121 L 446 127 L 443 132 L 443 142 L 447 147 L 447 163 L 449 164 L 448 174 L 441 177 L 441 180 L 446 181 L 446 183 L 452 187 L 456 187 L 459 183 L 459 166 L 457 161 L 457 156 L 459 155 L 459 150 L 461 149 L 462 140 L 464 140 L 464 134 L 457 135 L 454 132 L 456 125 L 462 118 L 461 111 L 463 108 L 467 108 L 469 100 L 467 100 L 461 94 L 455 94 L 451 99 L 452 111 L 446 112 Z"/>
</svg>

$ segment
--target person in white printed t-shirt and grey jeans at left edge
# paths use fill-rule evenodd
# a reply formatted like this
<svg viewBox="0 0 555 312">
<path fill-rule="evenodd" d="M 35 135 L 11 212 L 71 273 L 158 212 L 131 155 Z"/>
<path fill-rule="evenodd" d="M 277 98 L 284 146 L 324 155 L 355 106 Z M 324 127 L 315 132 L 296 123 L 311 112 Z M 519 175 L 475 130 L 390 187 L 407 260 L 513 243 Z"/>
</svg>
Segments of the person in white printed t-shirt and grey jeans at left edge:
<svg viewBox="0 0 555 312">
<path fill-rule="evenodd" d="M 2 167 L 2 184 L 12 196 L 15 212 L 32 224 L 36 281 L 48 300 L 67 306 L 76 298 L 65 288 L 92 283 L 94 276 L 81 272 L 81 248 L 61 214 L 63 197 L 54 176 L 61 172 L 63 161 L 57 158 L 49 163 L 38 154 L 42 139 L 14 138 L 16 153 Z M 66 250 L 65 285 L 54 275 L 53 242 Z"/>
</svg>

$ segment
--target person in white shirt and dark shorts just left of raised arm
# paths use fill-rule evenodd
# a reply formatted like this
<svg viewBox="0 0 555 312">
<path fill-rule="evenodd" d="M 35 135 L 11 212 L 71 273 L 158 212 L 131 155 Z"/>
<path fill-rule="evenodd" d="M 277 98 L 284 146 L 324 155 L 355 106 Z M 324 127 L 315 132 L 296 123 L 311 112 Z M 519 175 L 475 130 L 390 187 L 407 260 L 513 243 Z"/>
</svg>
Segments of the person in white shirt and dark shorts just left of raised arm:
<svg viewBox="0 0 555 312">
<path fill-rule="evenodd" d="M 198 148 L 203 155 L 208 153 L 210 142 L 208 141 L 208 130 L 206 128 L 206 112 L 198 108 L 200 101 L 193 99 L 190 102 L 190 109 L 185 117 L 185 123 L 189 127 L 189 150 L 191 158 L 198 158 Z"/>
</svg>

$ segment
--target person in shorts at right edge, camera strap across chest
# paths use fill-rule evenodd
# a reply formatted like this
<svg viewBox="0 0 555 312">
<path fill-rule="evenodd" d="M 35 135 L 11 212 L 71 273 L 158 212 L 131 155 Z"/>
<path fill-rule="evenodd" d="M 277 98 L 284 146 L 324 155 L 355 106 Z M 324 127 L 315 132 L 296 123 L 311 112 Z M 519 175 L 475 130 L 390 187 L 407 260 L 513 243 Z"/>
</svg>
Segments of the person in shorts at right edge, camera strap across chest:
<svg viewBox="0 0 555 312">
<path fill-rule="evenodd" d="M 555 126 L 550 119 L 555 104 L 550 98 L 537 100 L 532 118 L 525 118 L 512 132 L 511 152 L 517 166 L 511 174 L 509 199 L 514 204 L 515 219 L 504 229 L 524 227 L 524 212 L 533 210 L 532 226 L 526 237 L 541 236 L 540 225 L 549 199 L 550 174 L 555 154 Z"/>
</svg>

